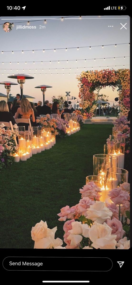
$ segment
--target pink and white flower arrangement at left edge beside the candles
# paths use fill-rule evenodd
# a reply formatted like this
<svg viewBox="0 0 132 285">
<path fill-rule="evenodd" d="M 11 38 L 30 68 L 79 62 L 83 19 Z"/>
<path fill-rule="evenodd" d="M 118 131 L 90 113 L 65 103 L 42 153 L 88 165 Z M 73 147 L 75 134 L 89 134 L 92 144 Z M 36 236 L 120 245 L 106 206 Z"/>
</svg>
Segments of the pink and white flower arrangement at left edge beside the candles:
<svg viewBox="0 0 132 285">
<path fill-rule="evenodd" d="M 9 166 L 13 162 L 13 154 L 16 151 L 16 144 L 14 139 L 18 135 L 18 127 L 13 126 L 14 132 L 5 130 L 5 125 L 0 125 L 0 170 Z"/>
</svg>

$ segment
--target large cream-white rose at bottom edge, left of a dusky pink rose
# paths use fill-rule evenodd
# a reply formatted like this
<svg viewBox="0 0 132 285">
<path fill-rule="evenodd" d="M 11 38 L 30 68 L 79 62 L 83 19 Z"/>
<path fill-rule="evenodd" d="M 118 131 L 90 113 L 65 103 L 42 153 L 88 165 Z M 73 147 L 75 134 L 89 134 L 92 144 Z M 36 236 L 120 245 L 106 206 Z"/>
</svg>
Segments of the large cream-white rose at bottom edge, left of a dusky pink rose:
<svg viewBox="0 0 132 285">
<path fill-rule="evenodd" d="M 92 247 L 95 249 L 115 249 L 117 235 L 111 235 L 112 229 L 104 223 L 95 222 L 89 230 Z"/>
</svg>

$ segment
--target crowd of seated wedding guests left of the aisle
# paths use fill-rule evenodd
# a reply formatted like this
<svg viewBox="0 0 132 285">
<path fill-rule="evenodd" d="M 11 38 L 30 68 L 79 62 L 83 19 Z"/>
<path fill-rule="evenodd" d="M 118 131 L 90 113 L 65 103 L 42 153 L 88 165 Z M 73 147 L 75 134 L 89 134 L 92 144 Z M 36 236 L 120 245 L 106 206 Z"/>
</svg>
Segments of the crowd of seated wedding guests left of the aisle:
<svg viewBox="0 0 132 285">
<path fill-rule="evenodd" d="M 65 108 L 60 111 L 57 101 L 51 104 L 46 100 L 42 106 L 42 101 L 33 104 L 27 98 L 20 99 L 20 94 L 17 94 L 13 102 L 0 101 L 0 122 L 11 121 L 14 125 L 16 123 L 15 119 L 30 119 L 31 125 L 37 126 L 36 119 L 40 115 L 58 114 L 64 119 L 63 113 L 72 113 L 73 111 L 73 108 L 68 108 L 68 104 L 65 104 Z M 18 125 L 25 125 L 25 130 L 28 130 L 28 124 L 18 123 Z"/>
</svg>

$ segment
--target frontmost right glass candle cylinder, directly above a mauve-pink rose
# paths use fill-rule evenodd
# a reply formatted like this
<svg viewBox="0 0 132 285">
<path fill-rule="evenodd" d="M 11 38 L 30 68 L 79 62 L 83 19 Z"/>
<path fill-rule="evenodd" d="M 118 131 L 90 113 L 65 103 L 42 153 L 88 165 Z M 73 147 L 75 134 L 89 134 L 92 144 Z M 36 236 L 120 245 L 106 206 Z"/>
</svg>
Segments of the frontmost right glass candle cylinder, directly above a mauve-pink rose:
<svg viewBox="0 0 132 285">
<path fill-rule="evenodd" d="M 122 168 L 108 168 L 106 174 L 106 186 L 107 188 L 115 189 L 120 184 L 128 181 L 128 171 Z M 109 190 L 109 191 L 110 191 Z"/>
</svg>

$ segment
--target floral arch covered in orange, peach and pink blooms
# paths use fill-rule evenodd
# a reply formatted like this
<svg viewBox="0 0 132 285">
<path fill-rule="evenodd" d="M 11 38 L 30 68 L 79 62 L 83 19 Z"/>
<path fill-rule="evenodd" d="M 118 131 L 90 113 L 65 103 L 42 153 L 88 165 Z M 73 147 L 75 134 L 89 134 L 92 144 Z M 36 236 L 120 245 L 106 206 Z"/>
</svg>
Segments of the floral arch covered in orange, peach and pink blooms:
<svg viewBox="0 0 132 285">
<path fill-rule="evenodd" d="M 113 91 L 115 87 L 118 87 L 120 115 L 127 116 L 130 109 L 129 69 L 82 71 L 77 79 L 79 81 L 79 98 L 82 101 L 81 106 L 83 110 L 87 111 L 89 118 L 93 116 L 96 109 L 97 92 L 106 86 L 111 86 Z"/>
</svg>

